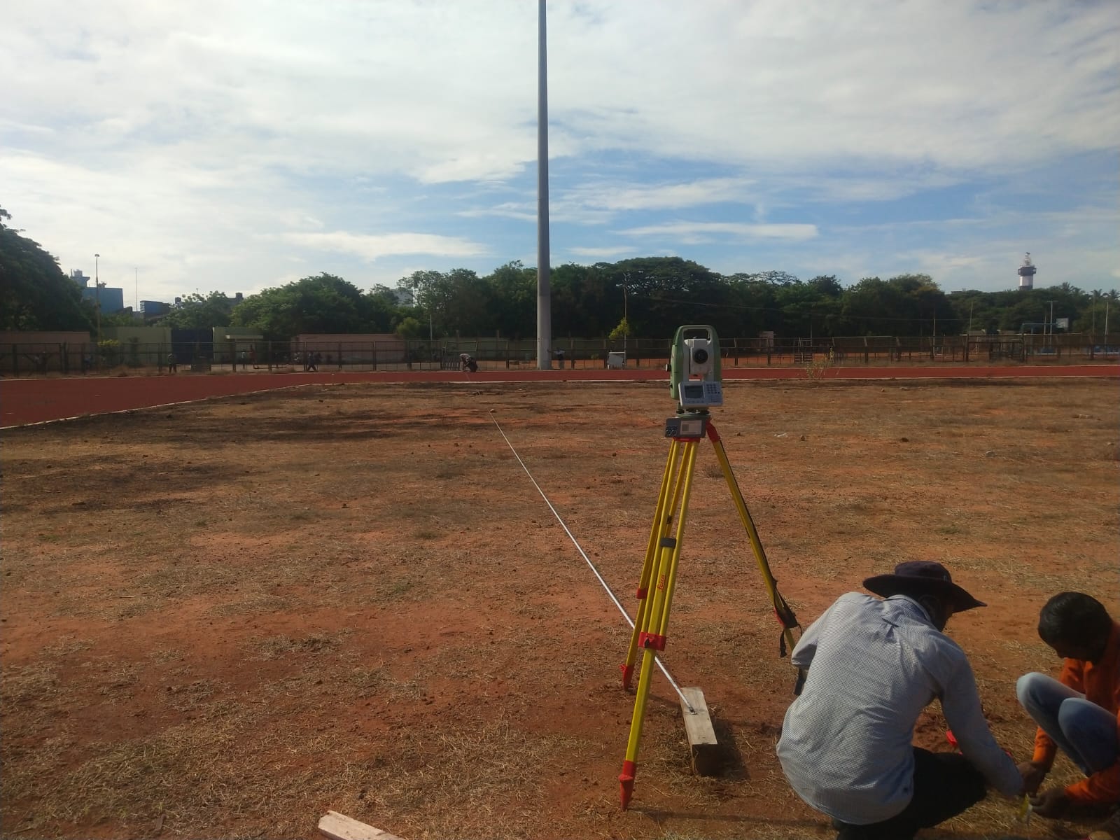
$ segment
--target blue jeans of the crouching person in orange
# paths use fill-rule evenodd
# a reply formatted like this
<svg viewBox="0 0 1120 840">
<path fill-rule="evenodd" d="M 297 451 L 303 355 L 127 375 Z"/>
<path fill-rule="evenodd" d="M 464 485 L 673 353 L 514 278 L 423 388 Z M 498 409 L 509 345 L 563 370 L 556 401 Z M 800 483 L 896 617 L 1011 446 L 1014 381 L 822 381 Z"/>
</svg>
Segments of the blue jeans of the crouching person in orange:
<svg viewBox="0 0 1120 840">
<path fill-rule="evenodd" d="M 1086 776 L 1117 763 L 1116 715 L 1046 674 L 1024 674 L 1015 693 L 1027 713 Z"/>
</svg>

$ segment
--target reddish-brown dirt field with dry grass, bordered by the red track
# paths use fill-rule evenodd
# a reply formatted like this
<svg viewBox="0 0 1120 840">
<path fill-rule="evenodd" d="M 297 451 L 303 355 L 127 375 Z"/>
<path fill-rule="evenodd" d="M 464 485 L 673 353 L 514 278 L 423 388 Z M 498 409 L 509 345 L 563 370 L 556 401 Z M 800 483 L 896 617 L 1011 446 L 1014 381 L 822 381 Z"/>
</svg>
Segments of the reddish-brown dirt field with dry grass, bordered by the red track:
<svg viewBox="0 0 1120 840">
<path fill-rule="evenodd" d="M 1060 664 L 1038 608 L 1120 615 L 1116 381 L 725 390 L 802 625 L 944 562 L 990 604 L 948 632 L 1029 757 L 1014 682 Z M 692 775 L 655 674 L 619 808 L 629 629 L 510 445 L 633 610 L 672 409 L 662 382 L 348 383 L 7 430 L 2 834 L 310 838 L 335 810 L 409 840 L 832 837 L 774 756 L 794 674 L 707 445 L 664 662 L 725 760 Z M 949 748 L 935 704 L 916 738 Z M 999 797 L 923 834 L 1055 836 Z"/>
</svg>

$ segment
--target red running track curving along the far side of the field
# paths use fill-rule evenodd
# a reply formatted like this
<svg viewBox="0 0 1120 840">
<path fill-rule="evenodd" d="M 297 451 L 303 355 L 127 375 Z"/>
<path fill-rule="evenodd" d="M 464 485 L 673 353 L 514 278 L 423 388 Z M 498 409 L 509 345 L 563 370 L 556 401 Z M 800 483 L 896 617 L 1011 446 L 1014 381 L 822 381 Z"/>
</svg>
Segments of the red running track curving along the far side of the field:
<svg viewBox="0 0 1120 840">
<path fill-rule="evenodd" d="M 825 379 L 1011 379 L 1023 376 L 1120 377 L 1120 364 L 1018 365 L 1006 367 L 829 367 Z M 725 367 L 725 380 L 805 379 L 800 367 Z M 310 384 L 344 382 L 634 382 L 665 380 L 656 368 L 577 371 L 374 371 L 367 373 L 236 373 L 176 376 L 83 376 L 0 380 L 0 428 L 86 414 L 169 405 Z"/>
</svg>

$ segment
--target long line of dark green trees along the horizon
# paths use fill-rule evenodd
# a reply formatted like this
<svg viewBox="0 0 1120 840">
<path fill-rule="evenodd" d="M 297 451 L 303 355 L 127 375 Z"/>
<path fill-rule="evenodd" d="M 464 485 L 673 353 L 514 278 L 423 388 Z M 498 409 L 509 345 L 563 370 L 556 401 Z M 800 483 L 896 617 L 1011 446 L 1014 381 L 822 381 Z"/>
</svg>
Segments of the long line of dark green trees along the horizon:
<svg viewBox="0 0 1120 840">
<path fill-rule="evenodd" d="M 93 305 L 38 243 L 20 236 L 0 208 L 0 328 L 92 329 Z M 550 272 L 552 336 L 665 338 L 682 324 L 709 324 L 724 337 L 928 336 L 1053 329 L 1101 334 L 1120 317 L 1118 292 L 1070 283 L 1019 291 L 946 295 L 928 274 L 867 277 L 844 287 L 831 274 L 801 280 L 784 271 L 720 274 L 678 256 L 647 256 Z M 1111 307 L 1111 311 L 1109 311 Z M 134 324 L 103 316 L 102 326 Z M 301 333 L 396 333 L 404 338 L 536 335 L 536 269 L 508 262 L 492 273 L 417 271 L 395 289 L 363 291 L 335 274 L 305 277 L 245 297 L 187 295 L 160 326 L 251 327 L 269 340 Z M 1113 330 L 1114 332 L 1114 330 Z"/>
</svg>

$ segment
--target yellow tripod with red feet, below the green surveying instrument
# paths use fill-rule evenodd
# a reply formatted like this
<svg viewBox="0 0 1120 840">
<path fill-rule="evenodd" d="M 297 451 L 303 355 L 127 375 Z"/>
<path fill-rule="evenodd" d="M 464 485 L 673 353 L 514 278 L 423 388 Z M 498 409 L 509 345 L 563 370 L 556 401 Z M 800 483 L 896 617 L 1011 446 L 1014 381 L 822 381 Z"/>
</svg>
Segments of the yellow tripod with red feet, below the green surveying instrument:
<svg viewBox="0 0 1120 840">
<path fill-rule="evenodd" d="M 692 476 L 696 469 L 697 445 L 701 438 L 711 440 L 719 460 L 727 487 L 739 512 L 739 519 L 750 538 L 758 570 L 766 584 L 774 614 L 782 625 L 778 651 L 782 656 L 794 646 L 793 628 L 797 627 L 797 617 L 790 605 L 777 590 L 777 581 L 771 573 L 766 553 L 750 512 L 743 500 L 743 493 L 735 480 L 731 465 L 727 459 L 724 442 L 719 439 L 716 427 L 711 423 L 707 411 L 679 412 L 676 417 L 665 421 L 665 437 L 672 441 L 669 447 L 669 458 L 661 478 L 661 492 L 657 495 L 657 508 L 650 530 L 650 540 L 645 550 L 645 563 L 642 566 L 642 578 L 637 588 L 640 600 L 637 618 L 631 634 L 626 662 L 622 666 L 623 687 L 629 688 L 634 675 L 634 663 L 638 648 L 642 650 L 642 672 L 638 678 L 637 691 L 634 697 L 634 715 L 631 718 L 629 741 L 626 745 L 626 759 L 623 772 L 618 776 L 623 809 L 629 804 L 634 793 L 634 775 L 637 772 L 637 750 L 642 739 L 642 722 L 645 717 L 646 698 L 650 693 L 650 681 L 653 676 L 653 665 L 659 651 L 665 650 L 665 636 L 669 629 L 669 612 L 673 601 L 673 588 L 676 584 L 676 569 L 681 558 L 681 544 L 684 540 L 684 522 L 688 514 L 689 496 L 692 493 Z M 675 530 L 674 530 L 675 529 Z M 671 533 L 672 532 L 672 533 Z M 653 596 L 650 597 L 650 587 Z M 800 693 L 804 674 L 799 673 L 794 693 Z M 683 697 L 683 696 L 682 696 Z"/>
</svg>

